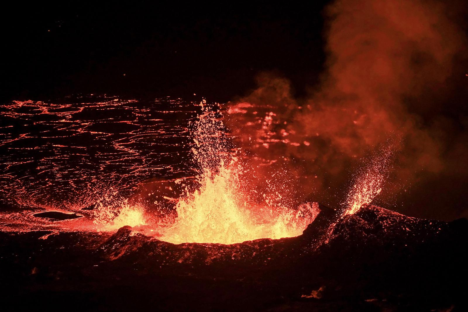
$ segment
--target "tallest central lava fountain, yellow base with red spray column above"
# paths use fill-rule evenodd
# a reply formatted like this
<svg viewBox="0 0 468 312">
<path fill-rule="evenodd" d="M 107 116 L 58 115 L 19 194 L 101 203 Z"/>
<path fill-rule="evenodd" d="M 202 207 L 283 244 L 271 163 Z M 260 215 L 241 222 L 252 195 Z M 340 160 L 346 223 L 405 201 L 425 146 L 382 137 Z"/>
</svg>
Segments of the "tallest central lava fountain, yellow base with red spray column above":
<svg viewBox="0 0 468 312">
<path fill-rule="evenodd" d="M 241 178 L 245 169 L 230 152 L 222 115 L 205 101 L 201 106 L 202 114 L 191 131 L 199 188 L 186 187 L 176 203 L 177 217 L 162 231 L 161 239 L 176 244 L 233 244 L 300 235 L 319 213 L 318 205 L 293 209 L 266 195 L 263 203 L 251 200 L 244 187 L 247 181 Z"/>
</svg>

